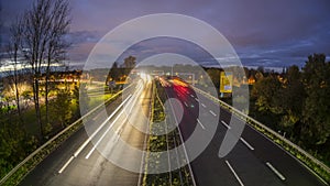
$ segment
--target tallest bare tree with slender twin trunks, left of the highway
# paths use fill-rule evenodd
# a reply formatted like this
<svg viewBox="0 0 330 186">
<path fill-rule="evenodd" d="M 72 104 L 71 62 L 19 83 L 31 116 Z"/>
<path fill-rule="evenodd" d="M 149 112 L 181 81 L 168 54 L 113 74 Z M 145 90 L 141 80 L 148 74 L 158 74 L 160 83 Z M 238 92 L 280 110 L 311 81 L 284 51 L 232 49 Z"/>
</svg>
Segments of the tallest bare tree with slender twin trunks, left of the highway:
<svg viewBox="0 0 330 186">
<path fill-rule="evenodd" d="M 41 136 L 43 121 L 40 106 L 40 81 L 46 73 L 46 105 L 48 105 L 48 78 L 53 63 L 61 61 L 65 51 L 64 35 L 68 32 L 69 8 L 67 0 L 36 0 L 24 14 L 25 57 L 33 74 L 33 99 Z M 47 106 L 46 106 L 47 107 Z"/>
</svg>

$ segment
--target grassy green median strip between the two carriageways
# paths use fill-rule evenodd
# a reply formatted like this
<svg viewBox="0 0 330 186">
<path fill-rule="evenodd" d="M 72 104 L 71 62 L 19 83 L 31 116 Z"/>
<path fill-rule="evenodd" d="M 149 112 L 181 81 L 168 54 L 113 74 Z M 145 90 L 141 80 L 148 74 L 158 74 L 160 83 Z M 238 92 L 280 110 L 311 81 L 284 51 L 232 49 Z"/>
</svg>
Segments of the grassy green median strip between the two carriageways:
<svg viewBox="0 0 330 186">
<path fill-rule="evenodd" d="M 157 152 L 166 152 L 168 150 L 173 150 L 176 146 L 178 146 L 180 142 L 178 130 L 175 129 L 167 133 L 167 125 L 164 123 L 162 124 L 161 121 L 166 120 L 165 111 L 164 111 L 164 105 L 162 99 L 166 100 L 165 90 L 163 87 L 156 83 L 155 87 L 155 96 L 153 99 L 153 109 L 152 109 L 152 122 L 150 124 L 150 130 L 155 133 L 166 133 L 163 135 L 148 135 L 147 140 L 147 153 L 145 156 L 145 169 L 144 169 L 144 177 L 142 185 L 144 186 L 158 186 L 158 185 L 191 185 L 191 175 L 189 174 L 188 166 L 184 166 L 177 169 L 174 169 L 172 172 L 167 173 L 161 173 L 161 174 L 150 174 L 148 169 L 157 171 L 161 169 L 161 153 L 157 154 Z M 161 98 L 162 97 L 162 98 Z M 166 123 L 166 122 L 165 122 Z M 150 152 L 153 152 L 151 154 Z M 169 157 L 166 158 L 184 158 L 184 154 L 179 154 L 177 157 Z M 164 160 L 162 160 L 164 161 Z M 184 160 L 178 160 L 184 161 Z M 175 162 L 175 161 L 168 161 L 168 162 Z M 169 163 L 170 164 L 170 163 Z M 168 165 L 174 166 L 174 165 Z M 164 168 L 164 167 L 163 167 Z"/>
</svg>

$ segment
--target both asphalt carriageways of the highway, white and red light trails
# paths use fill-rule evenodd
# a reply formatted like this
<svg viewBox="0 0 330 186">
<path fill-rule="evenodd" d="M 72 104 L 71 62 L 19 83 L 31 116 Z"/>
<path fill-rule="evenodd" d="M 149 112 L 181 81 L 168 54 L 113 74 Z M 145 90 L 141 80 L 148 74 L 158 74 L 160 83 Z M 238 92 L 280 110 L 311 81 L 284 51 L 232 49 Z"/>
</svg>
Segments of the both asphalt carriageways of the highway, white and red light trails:
<svg viewBox="0 0 330 186">
<path fill-rule="evenodd" d="M 210 144 L 189 164 L 194 184 L 200 186 L 326 185 L 295 157 L 249 125 L 244 128 L 234 149 L 220 158 L 218 153 L 221 142 L 226 132 L 232 130 L 229 125 L 230 120 L 239 121 L 239 119 L 219 108 L 216 102 L 195 92 L 190 87 L 178 86 L 166 86 L 164 90 L 167 98 L 176 98 L 184 108 L 182 120 L 178 119 L 179 112 L 175 108 L 167 112 L 169 117 L 167 122 L 180 121 L 182 141 L 187 141 L 196 128 L 206 133 L 208 130 L 216 129 Z M 88 121 L 88 129 L 92 132 L 86 132 L 84 128 L 78 130 L 38 164 L 20 185 L 141 185 L 140 173 L 121 168 L 107 157 L 113 157 L 111 154 L 116 154 L 122 164 L 143 169 L 144 154 L 130 151 L 117 143 L 123 140 L 133 147 L 146 150 L 147 134 L 135 127 L 148 130 L 148 122 L 141 117 L 141 113 L 146 118 L 150 116 L 152 84 L 139 83 L 124 97 L 125 99 L 118 99 L 107 107 L 110 117 L 106 121 L 98 116 L 91 118 Z M 135 107 L 136 103 L 141 103 L 142 108 Z M 123 110 L 131 110 L 131 112 L 127 114 Z M 218 128 L 210 125 L 212 124 L 210 122 L 199 120 L 199 111 L 206 118 L 219 119 Z M 218 113 L 220 116 L 217 116 Z M 129 117 L 131 117 L 130 120 Z M 129 121 L 133 122 L 134 127 Z M 120 139 L 114 138 L 109 130 L 119 134 Z M 206 136 L 201 133 L 198 138 L 202 140 Z M 179 152 L 178 156 L 186 160 L 180 161 L 190 160 L 190 152 L 196 146 L 186 145 L 185 147 L 186 151 Z"/>
</svg>

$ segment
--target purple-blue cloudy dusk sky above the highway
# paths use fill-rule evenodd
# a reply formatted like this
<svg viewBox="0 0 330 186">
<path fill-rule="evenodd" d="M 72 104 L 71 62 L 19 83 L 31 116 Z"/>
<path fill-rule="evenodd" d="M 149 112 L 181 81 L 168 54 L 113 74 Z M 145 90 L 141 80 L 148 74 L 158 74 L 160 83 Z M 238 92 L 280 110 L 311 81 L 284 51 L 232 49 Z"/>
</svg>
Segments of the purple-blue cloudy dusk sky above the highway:
<svg viewBox="0 0 330 186">
<path fill-rule="evenodd" d="M 2 45 L 10 22 L 31 2 L 1 1 Z M 330 56 L 329 0 L 72 0 L 70 7 L 69 40 L 74 45 L 69 58 L 75 63 L 84 63 L 94 45 L 116 26 L 152 13 L 186 14 L 209 23 L 229 40 L 246 66 L 302 66 L 314 53 Z M 166 46 L 151 43 L 148 47 L 154 53 Z M 139 48 L 133 48 L 134 53 L 144 52 Z M 189 53 L 188 47 L 179 50 Z M 201 58 L 200 63 L 207 59 Z"/>
</svg>

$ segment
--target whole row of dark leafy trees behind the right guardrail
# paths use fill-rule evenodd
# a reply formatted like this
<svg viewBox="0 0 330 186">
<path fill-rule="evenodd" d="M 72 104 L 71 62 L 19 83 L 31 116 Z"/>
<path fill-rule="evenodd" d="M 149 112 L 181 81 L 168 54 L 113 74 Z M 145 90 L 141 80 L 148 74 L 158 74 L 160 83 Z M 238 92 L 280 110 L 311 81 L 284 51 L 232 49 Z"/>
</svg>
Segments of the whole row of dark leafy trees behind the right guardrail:
<svg viewBox="0 0 330 186">
<path fill-rule="evenodd" d="M 330 62 L 314 54 L 282 74 L 260 72 L 250 114 L 330 165 Z"/>
</svg>

